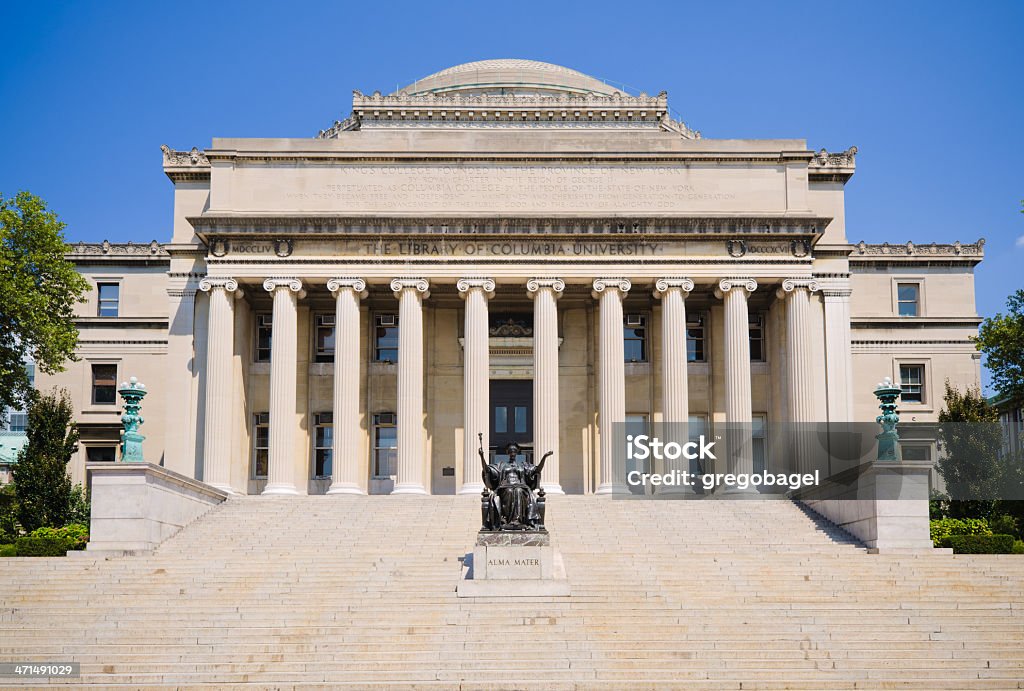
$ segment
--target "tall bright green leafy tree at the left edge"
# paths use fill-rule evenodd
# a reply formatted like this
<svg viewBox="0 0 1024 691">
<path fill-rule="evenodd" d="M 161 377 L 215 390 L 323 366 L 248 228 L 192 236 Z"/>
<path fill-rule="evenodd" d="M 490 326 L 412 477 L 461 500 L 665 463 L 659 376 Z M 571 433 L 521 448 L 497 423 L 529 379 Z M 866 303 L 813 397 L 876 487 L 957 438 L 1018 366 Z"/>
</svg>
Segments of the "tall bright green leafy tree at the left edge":
<svg viewBox="0 0 1024 691">
<path fill-rule="evenodd" d="M 32 393 L 26 355 L 46 374 L 75 359 L 73 310 L 88 284 L 65 259 L 63 228 L 38 197 L 0 196 L 0 422 Z"/>
</svg>

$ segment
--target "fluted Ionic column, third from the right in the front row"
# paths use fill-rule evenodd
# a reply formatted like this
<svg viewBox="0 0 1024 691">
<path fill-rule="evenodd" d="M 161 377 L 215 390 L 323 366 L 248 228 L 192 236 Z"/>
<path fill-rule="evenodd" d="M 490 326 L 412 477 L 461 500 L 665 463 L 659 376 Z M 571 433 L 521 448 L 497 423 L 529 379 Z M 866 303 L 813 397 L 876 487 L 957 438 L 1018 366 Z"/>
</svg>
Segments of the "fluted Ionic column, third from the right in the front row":
<svg viewBox="0 0 1024 691">
<path fill-rule="evenodd" d="M 666 439 L 684 443 L 690 417 L 686 359 L 686 296 L 693 290 L 689 278 L 659 278 L 654 297 L 662 300 L 662 415 Z M 683 459 L 668 461 L 667 472 L 687 470 Z M 687 489 L 676 485 L 670 489 Z"/>
</svg>

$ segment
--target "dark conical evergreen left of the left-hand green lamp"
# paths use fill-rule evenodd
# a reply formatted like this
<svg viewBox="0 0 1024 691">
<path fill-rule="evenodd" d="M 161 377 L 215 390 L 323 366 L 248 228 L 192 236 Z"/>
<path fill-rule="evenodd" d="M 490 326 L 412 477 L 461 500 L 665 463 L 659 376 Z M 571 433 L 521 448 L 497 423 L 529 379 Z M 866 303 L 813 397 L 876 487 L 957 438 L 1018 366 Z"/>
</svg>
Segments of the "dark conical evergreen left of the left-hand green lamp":
<svg viewBox="0 0 1024 691">
<path fill-rule="evenodd" d="M 78 428 L 67 391 L 34 397 L 29 405 L 28 443 L 14 465 L 17 520 L 26 532 L 63 527 L 75 511 L 68 463 L 78 448 Z"/>
</svg>

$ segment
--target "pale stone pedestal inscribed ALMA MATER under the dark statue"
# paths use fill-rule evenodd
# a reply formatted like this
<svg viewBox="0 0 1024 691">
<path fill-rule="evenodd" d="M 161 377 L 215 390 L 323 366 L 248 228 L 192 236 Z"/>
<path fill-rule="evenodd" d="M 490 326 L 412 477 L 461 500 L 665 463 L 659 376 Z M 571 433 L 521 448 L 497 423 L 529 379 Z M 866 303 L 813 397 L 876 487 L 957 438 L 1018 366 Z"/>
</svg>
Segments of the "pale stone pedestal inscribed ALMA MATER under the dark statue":
<svg viewBox="0 0 1024 691">
<path fill-rule="evenodd" d="M 463 559 L 460 598 L 565 597 L 569 581 L 547 530 L 480 530 Z"/>
</svg>

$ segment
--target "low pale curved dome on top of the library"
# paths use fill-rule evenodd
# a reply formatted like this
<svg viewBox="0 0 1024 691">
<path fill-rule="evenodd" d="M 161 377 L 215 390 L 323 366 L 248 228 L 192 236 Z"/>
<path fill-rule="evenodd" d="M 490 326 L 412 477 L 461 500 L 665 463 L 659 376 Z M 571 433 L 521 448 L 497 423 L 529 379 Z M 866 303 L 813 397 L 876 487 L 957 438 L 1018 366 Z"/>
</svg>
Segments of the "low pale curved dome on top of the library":
<svg viewBox="0 0 1024 691">
<path fill-rule="evenodd" d="M 615 89 L 599 79 L 559 64 L 523 59 L 465 62 L 418 79 L 396 93 L 555 94 L 597 93 Z"/>
</svg>

